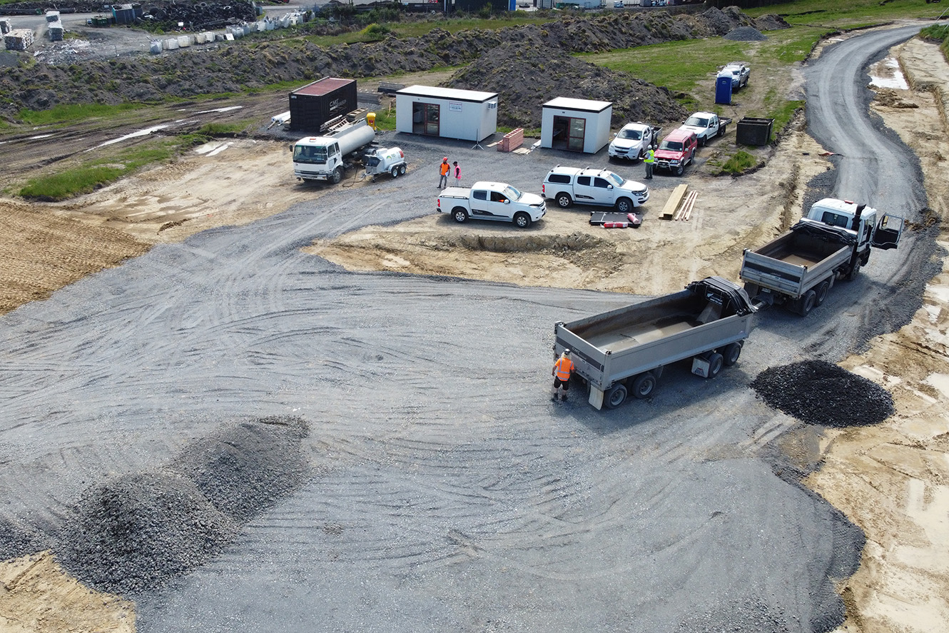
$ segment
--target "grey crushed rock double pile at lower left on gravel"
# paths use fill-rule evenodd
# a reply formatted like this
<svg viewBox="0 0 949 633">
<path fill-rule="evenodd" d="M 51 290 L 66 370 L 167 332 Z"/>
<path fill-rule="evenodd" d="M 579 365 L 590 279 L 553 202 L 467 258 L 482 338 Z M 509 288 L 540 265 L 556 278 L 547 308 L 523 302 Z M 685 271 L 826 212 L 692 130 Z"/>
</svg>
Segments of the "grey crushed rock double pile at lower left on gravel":
<svg viewBox="0 0 949 633">
<path fill-rule="evenodd" d="M 213 558 L 243 522 L 300 486 L 306 436 L 302 419 L 256 419 L 195 442 L 159 471 L 92 487 L 65 521 L 57 555 L 101 590 L 161 586 Z"/>
</svg>

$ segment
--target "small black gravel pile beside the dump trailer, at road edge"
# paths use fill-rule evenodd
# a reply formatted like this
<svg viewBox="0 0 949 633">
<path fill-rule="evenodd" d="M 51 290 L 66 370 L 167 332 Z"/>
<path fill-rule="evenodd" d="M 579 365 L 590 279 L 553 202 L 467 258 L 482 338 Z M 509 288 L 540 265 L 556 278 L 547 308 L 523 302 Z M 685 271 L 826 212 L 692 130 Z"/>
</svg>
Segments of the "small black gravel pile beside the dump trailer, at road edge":
<svg viewBox="0 0 949 633">
<path fill-rule="evenodd" d="M 826 361 L 769 367 L 752 388 L 772 408 L 809 424 L 876 424 L 893 415 L 893 397 L 883 387 Z"/>
</svg>

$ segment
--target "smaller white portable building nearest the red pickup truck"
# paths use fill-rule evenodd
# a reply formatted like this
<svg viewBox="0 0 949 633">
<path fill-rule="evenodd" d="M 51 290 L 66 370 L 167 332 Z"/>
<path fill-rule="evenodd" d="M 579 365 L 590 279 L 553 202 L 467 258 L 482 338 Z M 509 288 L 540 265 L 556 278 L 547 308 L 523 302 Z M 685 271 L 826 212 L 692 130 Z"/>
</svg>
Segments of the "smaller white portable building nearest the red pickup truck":
<svg viewBox="0 0 949 633">
<path fill-rule="evenodd" d="M 609 142 L 611 102 L 557 97 L 541 111 L 540 146 L 596 154 Z"/>
</svg>

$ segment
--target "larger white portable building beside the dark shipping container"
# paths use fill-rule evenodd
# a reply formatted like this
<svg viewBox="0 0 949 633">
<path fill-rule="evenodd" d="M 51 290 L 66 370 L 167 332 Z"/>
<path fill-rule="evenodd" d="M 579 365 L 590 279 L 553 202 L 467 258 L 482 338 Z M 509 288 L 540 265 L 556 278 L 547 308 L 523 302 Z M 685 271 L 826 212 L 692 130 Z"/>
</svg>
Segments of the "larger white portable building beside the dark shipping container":
<svg viewBox="0 0 949 633">
<path fill-rule="evenodd" d="M 409 85 L 396 91 L 396 130 L 480 142 L 497 131 L 497 93 Z"/>
</svg>

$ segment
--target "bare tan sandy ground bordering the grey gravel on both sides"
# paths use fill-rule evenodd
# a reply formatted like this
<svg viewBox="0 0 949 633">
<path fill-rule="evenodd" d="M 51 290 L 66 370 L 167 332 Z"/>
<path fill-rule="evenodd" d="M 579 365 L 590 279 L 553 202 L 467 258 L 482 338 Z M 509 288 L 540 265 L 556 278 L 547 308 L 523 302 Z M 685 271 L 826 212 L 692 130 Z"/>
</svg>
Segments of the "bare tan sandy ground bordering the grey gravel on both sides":
<svg viewBox="0 0 949 633">
<path fill-rule="evenodd" d="M 900 60 L 917 79 L 918 89 L 887 93 L 884 102 L 890 105 L 877 109 L 917 151 L 930 203 L 945 216 L 945 118 L 933 93 L 920 88 L 921 78 L 932 76 L 944 89 L 949 68 L 935 47 L 919 42 L 903 47 Z M 918 107 L 908 107 L 910 103 Z M 709 148 L 709 154 L 714 151 Z M 432 214 L 347 233 L 309 251 L 355 270 L 658 294 L 678 289 L 682 279 L 713 273 L 736 278 L 738 245 L 762 243 L 774 227 L 787 227 L 796 219 L 804 183 L 829 169 L 821 153 L 803 131 L 796 131 L 768 166 L 753 175 L 689 178 L 698 200 L 688 221 L 659 220 L 671 190 L 654 189 L 637 231 L 589 227 L 577 222 L 577 214 L 586 213 L 577 210 L 550 209 L 544 222 L 526 232 L 474 224 L 459 231 L 448 217 Z M 371 183 L 349 180 L 342 186 Z M 239 140 L 199 148 L 189 158 L 69 203 L 0 200 L 6 218 L 0 225 L 0 248 L 5 249 L 0 255 L 16 261 L 13 250 L 36 250 L 37 245 L 50 255 L 35 269 L 21 265 L 0 271 L 5 277 L 0 279 L 0 310 L 48 296 L 151 245 L 251 222 L 320 191 L 289 176 L 285 143 Z M 944 549 L 949 535 L 944 484 L 949 419 L 943 413 L 949 400 L 946 279 L 933 280 L 913 324 L 845 363 L 893 389 L 899 414 L 879 427 L 826 434 L 825 466 L 809 478 L 809 485 L 867 534 L 864 565 L 841 587 L 848 605 L 847 631 L 932 631 L 949 625 L 944 597 L 949 595 Z M 90 598 L 48 556 L 0 564 L 0 630 L 121 631 L 134 630 L 133 623 L 130 604 L 109 596 Z"/>
</svg>

